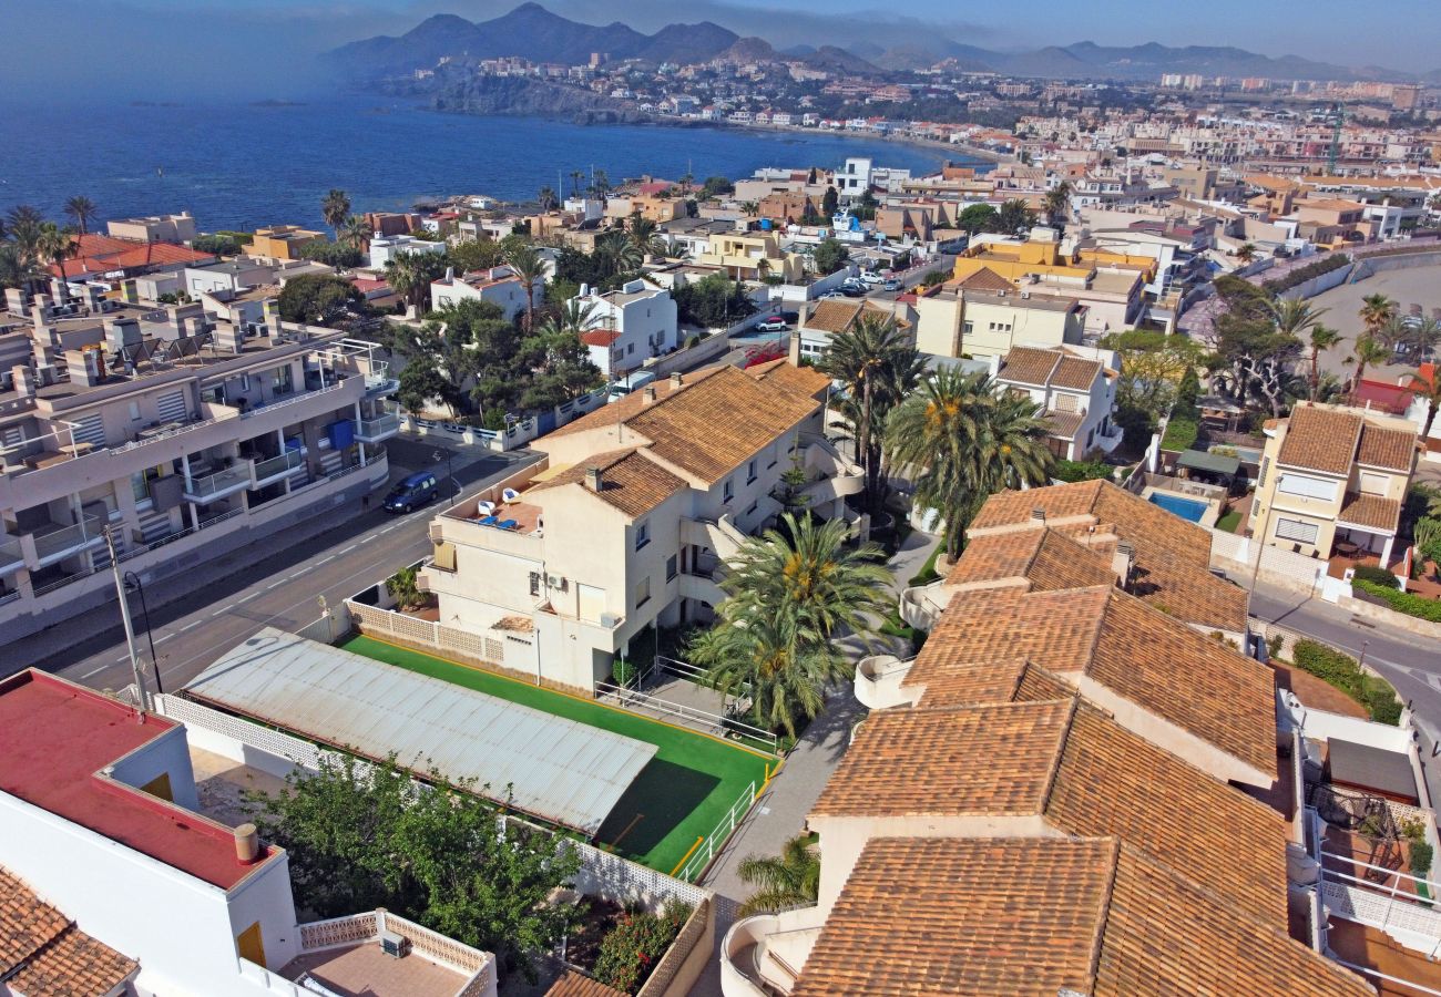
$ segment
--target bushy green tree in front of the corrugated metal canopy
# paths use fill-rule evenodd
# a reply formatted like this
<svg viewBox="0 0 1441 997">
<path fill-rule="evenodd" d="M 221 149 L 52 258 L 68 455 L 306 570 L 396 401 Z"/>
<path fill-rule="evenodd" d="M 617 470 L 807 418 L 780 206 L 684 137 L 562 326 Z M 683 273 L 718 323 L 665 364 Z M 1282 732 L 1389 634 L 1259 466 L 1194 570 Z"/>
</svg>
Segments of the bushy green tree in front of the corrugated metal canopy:
<svg viewBox="0 0 1441 997">
<path fill-rule="evenodd" d="M 393 756 L 365 765 L 346 755 L 248 800 L 320 916 L 383 906 L 533 981 L 535 957 L 572 926 L 572 908 L 549 898 L 572 885 L 579 854 L 548 831 L 500 823 L 483 787 L 451 788 L 434 769 L 429 779 L 416 784 Z"/>
</svg>

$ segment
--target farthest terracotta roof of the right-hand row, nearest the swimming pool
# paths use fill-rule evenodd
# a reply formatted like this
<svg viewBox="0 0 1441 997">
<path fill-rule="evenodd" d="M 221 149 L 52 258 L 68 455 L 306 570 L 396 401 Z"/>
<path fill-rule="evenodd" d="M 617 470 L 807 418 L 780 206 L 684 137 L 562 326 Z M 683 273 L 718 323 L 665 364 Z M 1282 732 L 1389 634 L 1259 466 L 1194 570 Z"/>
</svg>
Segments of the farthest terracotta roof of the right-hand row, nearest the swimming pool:
<svg viewBox="0 0 1441 997">
<path fill-rule="evenodd" d="M 971 522 L 971 539 L 987 530 L 1032 527 L 1033 509 L 1045 510 L 1046 523 L 1066 532 L 1097 526 L 1101 533 L 1102 524 L 1114 524 L 1110 530 L 1136 550 L 1134 595 L 1187 622 L 1245 630 L 1246 592 L 1210 573 L 1210 533 L 1110 481 L 994 494 Z"/>
</svg>

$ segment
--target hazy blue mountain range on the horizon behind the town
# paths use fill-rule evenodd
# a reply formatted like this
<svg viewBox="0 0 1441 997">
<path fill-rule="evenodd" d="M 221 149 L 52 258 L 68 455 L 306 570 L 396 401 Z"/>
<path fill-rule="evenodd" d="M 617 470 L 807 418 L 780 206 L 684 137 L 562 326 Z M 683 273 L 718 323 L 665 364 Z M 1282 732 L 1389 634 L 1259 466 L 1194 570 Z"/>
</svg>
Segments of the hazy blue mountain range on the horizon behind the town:
<svg viewBox="0 0 1441 997">
<path fill-rule="evenodd" d="M 1206 76 L 1267 76 L 1271 79 L 1414 79 L 1412 73 L 1380 66 L 1337 66 L 1295 55 L 1265 56 L 1229 46 L 1170 48 L 1150 42 L 1105 46 L 1079 42 L 1023 52 L 1000 52 L 925 36 L 904 48 L 882 48 L 857 40 L 844 48 L 797 46 L 775 52 L 758 37 L 741 37 L 712 22 L 667 24 L 643 35 L 628 24 L 584 24 L 526 3 L 486 22 L 455 14 L 435 14 L 401 36 L 382 35 L 352 42 L 326 55 L 330 65 L 352 79 L 378 79 L 428 69 L 442 58 L 494 59 L 519 56 L 532 62 L 585 63 L 592 53 L 611 61 L 693 63 L 710 59 L 732 62 L 800 61 L 831 72 L 885 75 L 950 62 L 970 72 L 999 72 L 1052 79 L 1159 79 L 1161 73 Z M 1427 73 L 1441 79 L 1441 69 Z"/>
</svg>

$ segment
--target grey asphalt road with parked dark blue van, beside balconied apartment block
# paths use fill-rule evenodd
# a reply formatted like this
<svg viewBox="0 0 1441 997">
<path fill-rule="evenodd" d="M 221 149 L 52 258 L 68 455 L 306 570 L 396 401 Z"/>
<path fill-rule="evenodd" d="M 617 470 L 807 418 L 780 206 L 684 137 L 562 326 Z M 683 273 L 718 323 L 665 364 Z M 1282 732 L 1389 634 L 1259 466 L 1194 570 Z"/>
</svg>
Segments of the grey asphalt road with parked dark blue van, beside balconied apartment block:
<svg viewBox="0 0 1441 997">
<path fill-rule="evenodd" d="M 431 438 L 396 437 L 388 444 L 391 480 L 434 467 L 444 478 L 450 452 L 457 487 L 474 491 L 540 458 L 522 450 L 494 454 L 464 444 L 437 444 Z M 418 560 L 431 549 L 428 523 L 450 500 L 391 516 L 379 509 L 378 491 L 369 511 L 327 529 L 324 516 L 313 520 L 316 532 L 271 536 L 215 562 L 206 573 L 157 582 L 146 589 L 150 637 L 154 640 L 164 690 L 176 690 L 215 658 L 262 627 L 293 628 L 320 617 L 318 598 L 330 605 L 367 584 Z M 160 604 L 164 605 L 160 605 Z M 138 599 L 131 601 L 137 644 L 148 661 L 150 648 Z M 75 622 L 62 624 L 0 648 L 0 674 L 37 666 L 94 689 L 121 689 L 131 683 L 130 658 L 111 604 L 112 625 L 75 638 Z M 92 614 L 101 615 L 101 614 Z M 86 624 L 92 625 L 86 618 Z M 153 681 L 153 680 L 151 680 Z"/>
</svg>

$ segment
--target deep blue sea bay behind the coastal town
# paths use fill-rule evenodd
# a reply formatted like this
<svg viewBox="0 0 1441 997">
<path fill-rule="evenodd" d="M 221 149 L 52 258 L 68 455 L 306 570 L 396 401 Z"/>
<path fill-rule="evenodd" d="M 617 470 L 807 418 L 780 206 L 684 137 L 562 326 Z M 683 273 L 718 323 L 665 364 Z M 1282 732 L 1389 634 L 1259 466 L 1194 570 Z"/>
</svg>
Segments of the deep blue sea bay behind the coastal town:
<svg viewBox="0 0 1441 997">
<path fill-rule="evenodd" d="M 650 174 L 697 183 L 759 167 L 837 167 L 847 156 L 921 173 L 968 161 L 950 150 L 873 137 L 726 127 L 578 125 L 442 114 L 385 97 L 305 104 L 6 104 L 0 97 L 0 212 L 33 205 L 63 220 L 85 195 L 99 216 L 189 210 L 202 231 L 323 226 L 320 203 L 346 190 L 356 212 L 408 210 L 448 195 L 533 199 L 569 192 L 571 173 L 612 183 Z"/>
</svg>

